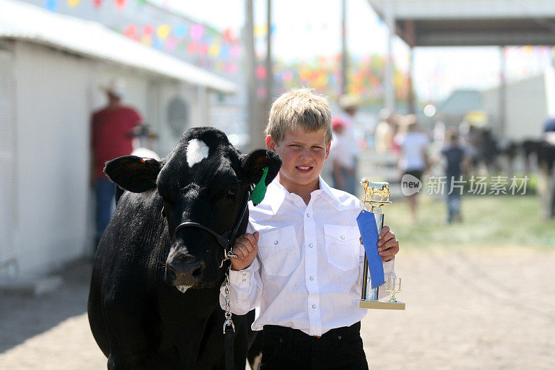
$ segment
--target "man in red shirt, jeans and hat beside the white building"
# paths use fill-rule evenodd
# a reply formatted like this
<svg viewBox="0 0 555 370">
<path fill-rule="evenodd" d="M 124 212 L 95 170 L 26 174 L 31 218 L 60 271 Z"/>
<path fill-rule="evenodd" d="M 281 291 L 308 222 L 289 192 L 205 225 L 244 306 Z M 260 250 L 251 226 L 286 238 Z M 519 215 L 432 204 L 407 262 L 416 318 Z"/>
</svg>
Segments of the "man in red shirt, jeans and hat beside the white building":
<svg viewBox="0 0 555 370">
<path fill-rule="evenodd" d="M 114 184 L 103 172 L 105 162 L 133 151 L 130 131 L 140 124 L 142 118 L 130 107 L 122 106 L 125 81 L 116 79 L 105 88 L 108 106 L 92 115 L 92 183 L 96 194 L 96 241 L 112 217 Z"/>
</svg>

